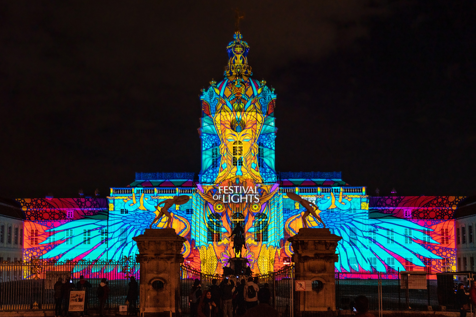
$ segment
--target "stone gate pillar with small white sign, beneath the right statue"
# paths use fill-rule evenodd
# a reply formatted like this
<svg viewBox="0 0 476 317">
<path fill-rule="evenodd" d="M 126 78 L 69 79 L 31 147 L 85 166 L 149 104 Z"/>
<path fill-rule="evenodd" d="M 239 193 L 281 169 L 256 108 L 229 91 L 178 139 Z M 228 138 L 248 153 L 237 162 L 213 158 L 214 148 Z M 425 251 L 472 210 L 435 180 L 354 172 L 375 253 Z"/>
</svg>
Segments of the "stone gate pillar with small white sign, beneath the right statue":
<svg viewBox="0 0 476 317">
<path fill-rule="evenodd" d="M 299 312 L 336 310 L 335 262 L 337 241 L 341 240 L 329 229 L 301 228 L 288 239 L 294 250 L 294 279 L 311 281 L 315 288 L 295 292 L 295 316 Z"/>
</svg>

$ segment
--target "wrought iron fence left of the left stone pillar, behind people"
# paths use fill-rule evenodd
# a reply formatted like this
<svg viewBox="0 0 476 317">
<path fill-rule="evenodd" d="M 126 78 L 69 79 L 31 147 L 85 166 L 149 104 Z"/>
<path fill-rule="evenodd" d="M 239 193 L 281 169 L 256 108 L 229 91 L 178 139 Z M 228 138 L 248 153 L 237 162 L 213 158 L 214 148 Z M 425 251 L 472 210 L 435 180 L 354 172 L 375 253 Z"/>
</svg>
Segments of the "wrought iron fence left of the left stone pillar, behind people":
<svg viewBox="0 0 476 317">
<path fill-rule="evenodd" d="M 129 277 L 139 282 L 139 264 L 127 258 L 122 261 L 66 261 L 54 262 L 32 259 L 30 262 L 0 263 L 0 309 L 54 309 L 53 285 L 58 278 L 71 279 L 76 285 L 79 276 L 91 283 L 87 288 L 87 305 L 99 308 L 96 296 L 101 279 L 108 279 L 110 288 L 106 308 L 124 305 Z"/>
</svg>

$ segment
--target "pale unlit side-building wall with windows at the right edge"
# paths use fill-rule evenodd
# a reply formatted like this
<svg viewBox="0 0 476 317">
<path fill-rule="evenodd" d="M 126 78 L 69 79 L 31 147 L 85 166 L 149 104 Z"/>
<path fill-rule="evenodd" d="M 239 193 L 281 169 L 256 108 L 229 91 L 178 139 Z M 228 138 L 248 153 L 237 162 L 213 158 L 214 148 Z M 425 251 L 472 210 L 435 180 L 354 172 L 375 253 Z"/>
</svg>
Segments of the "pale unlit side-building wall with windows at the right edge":
<svg viewBox="0 0 476 317">
<path fill-rule="evenodd" d="M 475 270 L 475 225 L 476 215 L 455 220 L 456 270 L 458 271 Z"/>
</svg>

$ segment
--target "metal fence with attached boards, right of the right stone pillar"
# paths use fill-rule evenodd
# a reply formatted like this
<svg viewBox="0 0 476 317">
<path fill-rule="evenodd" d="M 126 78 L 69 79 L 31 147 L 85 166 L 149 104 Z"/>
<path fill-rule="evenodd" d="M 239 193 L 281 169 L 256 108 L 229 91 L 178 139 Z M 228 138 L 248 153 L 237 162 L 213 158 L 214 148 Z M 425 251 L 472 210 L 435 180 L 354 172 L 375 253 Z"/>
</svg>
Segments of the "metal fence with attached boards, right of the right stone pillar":
<svg viewBox="0 0 476 317">
<path fill-rule="evenodd" d="M 336 273 L 336 309 L 351 309 L 354 298 L 365 295 L 371 310 L 458 310 L 456 288 L 463 283 L 466 292 L 473 272 L 427 273 Z"/>
</svg>

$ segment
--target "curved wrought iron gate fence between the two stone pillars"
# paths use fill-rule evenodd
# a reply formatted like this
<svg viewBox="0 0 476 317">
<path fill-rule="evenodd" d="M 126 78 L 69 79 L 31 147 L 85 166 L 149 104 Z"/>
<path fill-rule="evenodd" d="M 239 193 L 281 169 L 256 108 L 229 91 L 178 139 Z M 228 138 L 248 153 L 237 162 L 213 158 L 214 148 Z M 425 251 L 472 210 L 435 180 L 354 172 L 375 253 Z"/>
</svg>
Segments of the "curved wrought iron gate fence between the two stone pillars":
<svg viewBox="0 0 476 317">
<path fill-rule="evenodd" d="M 292 301 L 293 301 L 293 285 L 294 275 L 293 267 L 286 266 L 285 268 L 270 272 L 269 274 L 256 275 L 258 278 L 259 288 L 268 288 L 271 292 L 271 306 L 279 311 L 281 317 L 292 317 Z M 210 275 L 196 271 L 188 266 L 182 265 L 180 268 L 180 310 L 183 315 L 190 314 L 190 306 L 188 303 L 188 294 L 193 286 L 195 279 L 200 280 L 202 290 L 208 289 L 212 285 L 212 280 L 217 279 L 218 284 L 224 279 L 222 275 Z M 248 276 L 229 276 L 238 285 L 241 279 L 248 280 Z M 237 284 L 238 283 L 238 284 Z"/>
</svg>

